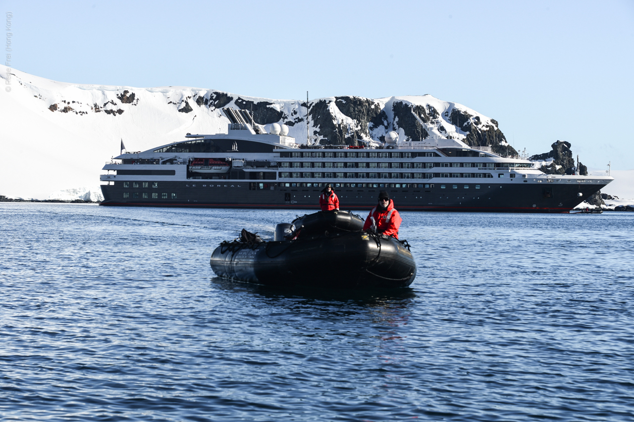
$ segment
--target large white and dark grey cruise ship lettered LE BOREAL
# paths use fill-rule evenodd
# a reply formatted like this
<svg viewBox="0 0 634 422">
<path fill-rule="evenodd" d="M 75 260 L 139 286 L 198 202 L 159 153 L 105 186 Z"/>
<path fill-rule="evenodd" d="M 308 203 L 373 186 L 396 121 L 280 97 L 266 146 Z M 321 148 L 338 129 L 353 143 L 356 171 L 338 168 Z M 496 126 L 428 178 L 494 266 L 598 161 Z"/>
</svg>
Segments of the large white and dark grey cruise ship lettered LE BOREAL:
<svg viewBox="0 0 634 422">
<path fill-rule="evenodd" d="M 534 163 L 469 147 L 458 136 L 364 145 L 295 142 L 267 133 L 248 112 L 224 110 L 227 133 L 114 157 L 103 170 L 104 206 L 319 208 L 330 183 L 342 209 L 369 209 L 387 190 L 399 210 L 567 213 L 609 176 L 547 175 Z M 250 122 L 249 122 L 250 121 Z"/>
</svg>

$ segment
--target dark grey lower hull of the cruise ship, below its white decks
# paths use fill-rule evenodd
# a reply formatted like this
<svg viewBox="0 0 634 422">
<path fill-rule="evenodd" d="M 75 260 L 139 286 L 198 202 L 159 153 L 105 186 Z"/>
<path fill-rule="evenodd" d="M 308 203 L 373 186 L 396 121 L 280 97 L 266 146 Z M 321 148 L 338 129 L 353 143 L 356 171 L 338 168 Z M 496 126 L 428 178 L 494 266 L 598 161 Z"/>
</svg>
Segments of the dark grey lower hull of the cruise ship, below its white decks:
<svg viewBox="0 0 634 422">
<path fill-rule="evenodd" d="M 199 182 L 199 181 L 198 181 Z M 103 206 L 198 208 L 318 209 L 320 188 L 285 187 L 271 182 L 266 188 L 249 181 L 221 183 L 163 181 L 159 188 L 124 188 L 123 183 L 102 185 Z M 399 210 L 568 213 L 595 194 L 605 183 L 464 183 L 436 182 L 408 188 L 339 188 L 342 209 L 370 209 L 380 190 L 389 190 Z M 410 186 L 413 184 L 410 184 Z M 423 187 L 418 187 L 423 186 Z M 477 187 L 477 188 L 476 188 Z M 127 194 L 127 198 L 124 195 Z M 144 195 L 145 194 L 145 195 Z M 157 198 L 152 198 L 156 194 Z M 581 195 L 579 195 L 581 194 Z M 145 198 L 146 196 L 147 198 Z"/>
</svg>

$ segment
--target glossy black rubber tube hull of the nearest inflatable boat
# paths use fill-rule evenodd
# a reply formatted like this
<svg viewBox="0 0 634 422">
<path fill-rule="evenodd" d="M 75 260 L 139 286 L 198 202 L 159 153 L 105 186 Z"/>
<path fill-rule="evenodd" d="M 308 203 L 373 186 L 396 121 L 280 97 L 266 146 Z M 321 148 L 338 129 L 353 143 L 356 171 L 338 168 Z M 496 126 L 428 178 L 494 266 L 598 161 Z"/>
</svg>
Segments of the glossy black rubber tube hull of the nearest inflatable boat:
<svg viewBox="0 0 634 422">
<path fill-rule="evenodd" d="M 219 277 L 268 286 L 396 288 L 416 277 L 413 256 L 403 243 L 366 232 L 252 246 L 224 242 L 210 265 Z"/>
</svg>

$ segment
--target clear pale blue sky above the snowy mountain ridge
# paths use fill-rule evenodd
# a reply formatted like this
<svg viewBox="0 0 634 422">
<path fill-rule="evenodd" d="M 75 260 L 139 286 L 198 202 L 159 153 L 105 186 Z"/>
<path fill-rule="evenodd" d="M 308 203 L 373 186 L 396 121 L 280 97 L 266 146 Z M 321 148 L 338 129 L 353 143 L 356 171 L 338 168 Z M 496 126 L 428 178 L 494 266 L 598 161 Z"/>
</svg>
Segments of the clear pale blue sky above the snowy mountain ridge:
<svg viewBox="0 0 634 422">
<path fill-rule="evenodd" d="M 266 98 L 431 94 L 634 168 L 634 1 L 15 1 L 13 67 Z"/>
</svg>

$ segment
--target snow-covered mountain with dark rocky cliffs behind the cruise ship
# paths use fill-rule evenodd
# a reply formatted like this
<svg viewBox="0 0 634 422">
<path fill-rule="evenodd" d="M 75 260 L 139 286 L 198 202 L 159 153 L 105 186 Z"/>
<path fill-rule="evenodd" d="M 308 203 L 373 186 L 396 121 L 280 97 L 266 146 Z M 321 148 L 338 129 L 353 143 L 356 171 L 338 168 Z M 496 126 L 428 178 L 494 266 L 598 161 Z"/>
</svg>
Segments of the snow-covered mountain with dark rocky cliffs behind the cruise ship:
<svg viewBox="0 0 634 422">
<path fill-rule="evenodd" d="M 320 143 L 402 141 L 453 136 L 469 145 L 514 153 L 498 122 L 431 95 L 271 100 L 216 89 L 81 85 L 50 81 L 0 65 L 3 156 L 0 194 L 47 198 L 63 188 L 94 186 L 105 161 L 127 150 L 183 140 L 186 133 L 224 133 L 224 107 L 253 110 L 258 124 L 287 124 L 289 135 Z M 308 106 L 308 108 L 306 107 Z"/>
</svg>

